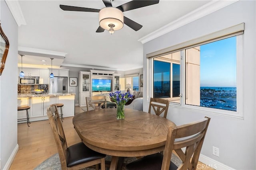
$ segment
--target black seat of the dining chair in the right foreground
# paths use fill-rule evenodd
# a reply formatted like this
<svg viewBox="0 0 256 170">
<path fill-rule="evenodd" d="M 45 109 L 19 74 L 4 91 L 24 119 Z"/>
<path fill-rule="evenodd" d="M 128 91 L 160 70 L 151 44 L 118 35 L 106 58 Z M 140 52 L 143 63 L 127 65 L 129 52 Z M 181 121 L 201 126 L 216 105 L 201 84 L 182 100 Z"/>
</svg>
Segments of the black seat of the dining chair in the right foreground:
<svg viewBox="0 0 256 170">
<path fill-rule="evenodd" d="M 126 165 L 128 170 L 160 170 L 162 167 L 163 155 L 161 153 L 151 154 L 135 160 Z M 169 170 L 176 170 L 178 166 L 171 162 Z"/>
</svg>

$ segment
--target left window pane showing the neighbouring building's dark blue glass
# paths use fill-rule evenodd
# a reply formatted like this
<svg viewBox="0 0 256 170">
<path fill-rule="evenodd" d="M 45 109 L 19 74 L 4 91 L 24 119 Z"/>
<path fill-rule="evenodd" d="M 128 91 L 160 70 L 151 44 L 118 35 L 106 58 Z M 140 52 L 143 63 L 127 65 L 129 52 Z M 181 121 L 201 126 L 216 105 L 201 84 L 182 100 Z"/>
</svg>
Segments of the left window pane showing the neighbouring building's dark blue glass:
<svg viewBox="0 0 256 170">
<path fill-rule="evenodd" d="M 154 58 L 153 96 L 180 103 L 180 51 Z"/>
</svg>

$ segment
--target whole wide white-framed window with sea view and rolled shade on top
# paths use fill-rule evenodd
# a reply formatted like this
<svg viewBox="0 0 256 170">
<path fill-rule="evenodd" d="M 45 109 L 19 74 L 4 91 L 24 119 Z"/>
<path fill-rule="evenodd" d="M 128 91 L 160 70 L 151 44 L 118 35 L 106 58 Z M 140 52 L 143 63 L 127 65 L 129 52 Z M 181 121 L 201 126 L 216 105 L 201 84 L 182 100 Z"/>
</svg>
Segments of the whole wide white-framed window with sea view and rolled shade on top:
<svg viewBox="0 0 256 170">
<path fill-rule="evenodd" d="M 149 94 L 177 107 L 243 117 L 243 33 L 241 23 L 147 54 Z"/>
</svg>

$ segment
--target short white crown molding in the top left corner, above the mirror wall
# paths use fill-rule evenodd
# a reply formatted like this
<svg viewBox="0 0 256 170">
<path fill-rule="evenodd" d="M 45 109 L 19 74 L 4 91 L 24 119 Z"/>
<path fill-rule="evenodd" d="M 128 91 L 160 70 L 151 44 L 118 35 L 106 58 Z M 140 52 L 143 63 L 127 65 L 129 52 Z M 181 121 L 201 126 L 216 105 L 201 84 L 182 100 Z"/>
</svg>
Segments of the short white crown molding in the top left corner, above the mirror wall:
<svg viewBox="0 0 256 170">
<path fill-rule="evenodd" d="M 20 4 L 18 0 L 5 0 L 14 20 L 16 21 L 17 25 L 27 25 L 26 20 L 23 16 L 22 10 L 20 8 Z"/>
</svg>

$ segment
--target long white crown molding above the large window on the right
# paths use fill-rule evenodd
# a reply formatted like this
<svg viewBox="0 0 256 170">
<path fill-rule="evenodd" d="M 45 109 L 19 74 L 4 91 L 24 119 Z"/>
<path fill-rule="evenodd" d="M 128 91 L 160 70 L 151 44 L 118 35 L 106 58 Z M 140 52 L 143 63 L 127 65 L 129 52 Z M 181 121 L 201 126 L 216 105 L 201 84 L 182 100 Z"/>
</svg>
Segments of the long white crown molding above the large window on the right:
<svg viewBox="0 0 256 170">
<path fill-rule="evenodd" d="M 171 23 L 168 23 L 167 25 L 157 29 L 156 31 L 138 39 L 138 41 L 140 41 L 142 44 L 147 43 L 152 39 L 160 37 L 199 18 L 207 16 L 208 14 L 211 14 L 212 12 L 215 12 L 237 1 L 238 0 L 212 0 L 200 8 L 197 8 L 196 10 L 178 18 L 177 20 L 174 20 Z"/>
</svg>

